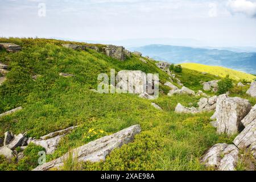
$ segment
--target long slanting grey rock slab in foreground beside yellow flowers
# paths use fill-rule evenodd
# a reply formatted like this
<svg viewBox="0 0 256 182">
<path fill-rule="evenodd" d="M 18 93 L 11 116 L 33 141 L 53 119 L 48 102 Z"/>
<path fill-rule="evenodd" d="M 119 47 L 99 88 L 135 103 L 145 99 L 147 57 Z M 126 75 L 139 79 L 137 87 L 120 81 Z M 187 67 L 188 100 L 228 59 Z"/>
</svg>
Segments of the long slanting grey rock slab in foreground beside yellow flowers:
<svg viewBox="0 0 256 182">
<path fill-rule="evenodd" d="M 69 155 L 72 155 L 73 159 L 77 159 L 78 162 L 100 162 L 106 159 L 106 156 L 110 154 L 115 148 L 120 148 L 123 144 L 127 144 L 133 141 L 134 136 L 141 132 L 141 126 L 134 125 L 127 129 L 121 130 L 118 133 L 102 137 L 81 146 L 75 148 L 71 152 L 61 156 L 58 159 L 52 160 L 46 164 L 36 167 L 33 171 L 48 171 L 51 168 L 60 168 L 63 166 L 65 160 Z"/>
</svg>

